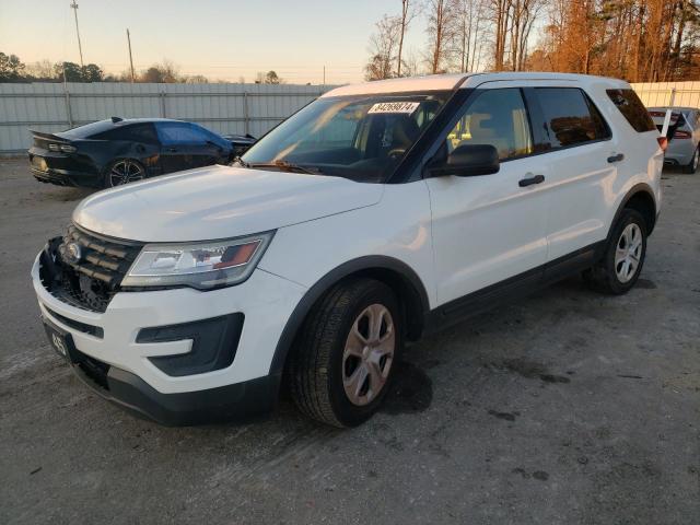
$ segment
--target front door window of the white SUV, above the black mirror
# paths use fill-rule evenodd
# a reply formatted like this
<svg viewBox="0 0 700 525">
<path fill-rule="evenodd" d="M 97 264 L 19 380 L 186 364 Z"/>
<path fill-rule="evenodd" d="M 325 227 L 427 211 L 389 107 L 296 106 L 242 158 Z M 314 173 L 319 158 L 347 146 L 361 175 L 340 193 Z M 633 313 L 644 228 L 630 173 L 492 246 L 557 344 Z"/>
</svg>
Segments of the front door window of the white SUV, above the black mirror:
<svg viewBox="0 0 700 525">
<path fill-rule="evenodd" d="M 521 90 L 487 90 L 447 135 L 447 152 L 463 144 L 490 144 L 504 161 L 530 154 L 533 137 Z"/>
</svg>

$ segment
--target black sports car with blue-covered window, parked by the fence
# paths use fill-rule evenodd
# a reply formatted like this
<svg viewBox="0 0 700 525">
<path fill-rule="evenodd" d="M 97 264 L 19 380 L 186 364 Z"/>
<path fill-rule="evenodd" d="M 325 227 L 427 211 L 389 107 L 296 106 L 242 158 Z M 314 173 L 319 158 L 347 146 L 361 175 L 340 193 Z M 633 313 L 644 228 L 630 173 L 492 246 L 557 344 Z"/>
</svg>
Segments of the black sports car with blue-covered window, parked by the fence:
<svg viewBox="0 0 700 525">
<path fill-rule="evenodd" d="M 164 173 L 233 160 L 231 141 L 192 122 L 166 118 L 88 124 L 58 133 L 33 131 L 30 164 L 37 180 L 109 188 Z"/>
</svg>

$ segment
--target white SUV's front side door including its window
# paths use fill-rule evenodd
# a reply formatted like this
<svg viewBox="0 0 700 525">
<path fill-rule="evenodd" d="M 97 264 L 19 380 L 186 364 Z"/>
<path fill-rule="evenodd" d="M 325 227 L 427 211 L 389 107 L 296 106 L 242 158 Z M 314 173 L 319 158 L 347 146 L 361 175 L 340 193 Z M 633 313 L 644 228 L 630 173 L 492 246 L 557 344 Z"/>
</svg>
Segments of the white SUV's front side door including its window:
<svg viewBox="0 0 700 525">
<path fill-rule="evenodd" d="M 547 260 L 541 182 L 549 173 L 541 156 L 532 155 L 536 148 L 522 91 L 508 82 L 487 85 L 469 97 L 441 149 L 491 144 L 500 171 L 427 180 L 441 305 L 514 276 L 538 280 Z"/>
</svg>

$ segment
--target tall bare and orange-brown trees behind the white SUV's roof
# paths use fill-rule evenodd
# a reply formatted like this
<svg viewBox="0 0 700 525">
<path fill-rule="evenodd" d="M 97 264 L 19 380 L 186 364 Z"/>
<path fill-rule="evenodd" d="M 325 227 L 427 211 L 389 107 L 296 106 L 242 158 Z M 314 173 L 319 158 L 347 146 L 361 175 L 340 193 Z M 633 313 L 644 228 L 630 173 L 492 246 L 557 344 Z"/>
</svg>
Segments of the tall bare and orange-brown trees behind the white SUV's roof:
<svg viewBox="0 0 700 525">
<path fill-rule="evenodd" d="M 396 1 L 400 12 L 384 15 L 370 37 L 366 80 L 481 70 L 700 78 L 698 0 Z M 419 18 L 424 45 L 407 52 Z"/>
</svg>

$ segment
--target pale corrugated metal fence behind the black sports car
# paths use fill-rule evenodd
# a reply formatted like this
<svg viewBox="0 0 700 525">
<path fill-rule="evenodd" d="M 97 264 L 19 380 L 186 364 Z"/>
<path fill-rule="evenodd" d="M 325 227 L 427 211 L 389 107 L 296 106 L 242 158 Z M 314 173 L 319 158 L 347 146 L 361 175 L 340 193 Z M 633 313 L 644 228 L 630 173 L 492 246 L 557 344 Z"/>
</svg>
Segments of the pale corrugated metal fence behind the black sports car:
<svg viewBox="0 0 700 525">
<path fill-rule="evenodd" d="M 108 82 L 0 84 L 0 155 L 24 152 L 32 142 L 30 129 L 61 131 L 112 116 L 166 116 L 195 121 L 223 135 L 247 131 L 259 137 L 332 88 Z"/>
</svg>

